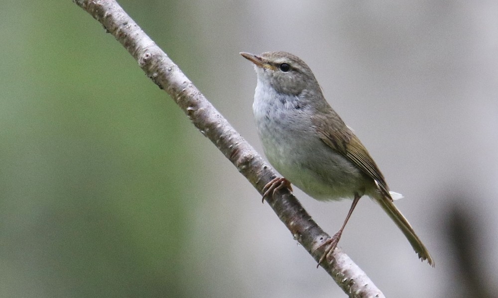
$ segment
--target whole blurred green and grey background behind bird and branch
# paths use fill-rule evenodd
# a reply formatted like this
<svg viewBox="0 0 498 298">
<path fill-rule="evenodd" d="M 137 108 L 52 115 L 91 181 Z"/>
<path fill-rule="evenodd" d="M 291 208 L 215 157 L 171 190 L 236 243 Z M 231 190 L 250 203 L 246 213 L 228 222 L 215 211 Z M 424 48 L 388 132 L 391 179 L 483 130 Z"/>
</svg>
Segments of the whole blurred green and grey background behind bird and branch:
<svg viewBox="0 0 498 298">
<path fill-rule="evenodd" d="M 436 262 L 363 199 L 340 246 L 386 296 L 498 291 L 496 1 L 120 3 L 259 152 L 239 52 L 307 62 Z M 345 297 L 89 14 L 1 6 L 0 297 Z"/>
</svg>

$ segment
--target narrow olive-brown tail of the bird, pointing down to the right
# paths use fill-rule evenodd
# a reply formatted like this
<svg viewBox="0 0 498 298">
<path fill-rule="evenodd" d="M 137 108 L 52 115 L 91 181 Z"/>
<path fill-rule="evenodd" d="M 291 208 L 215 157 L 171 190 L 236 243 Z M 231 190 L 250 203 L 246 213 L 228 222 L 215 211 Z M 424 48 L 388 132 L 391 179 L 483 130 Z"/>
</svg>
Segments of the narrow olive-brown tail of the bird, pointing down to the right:
<svg viewBox="0 0 498 298">
<path fill-rule="evenodd" d="M 381 196 L 379 196 L 381 197 Z M 411 247 L 415 250 L 415 252 L 418 254 L 418 257 L 423 260 L 427 260 L 429 265 L 434 267 L 434 260 L 432 259 L 431 255 L 429 254 L 429 251 L 427 251 L 427 248 L 425 248 L 424 244 L 418 238 L 417 234 L 415 234 L 415 231 L 411 227 L 411 225 L 408 223 L 408 221 L 405 219 L 405 217 L 399 212 L 399 210 L 394 206 L 390 198 L 382 196 L 381 198 L 376 198 L 377 203 L 380 204 L 382 209 L 389 215 L 389 217 L 394 221 L 394 223 L 399 227 L 399 229 L 403 232 L 403 234 L 406 236 L 408 241 L 411 244 Z"/>
</svg>

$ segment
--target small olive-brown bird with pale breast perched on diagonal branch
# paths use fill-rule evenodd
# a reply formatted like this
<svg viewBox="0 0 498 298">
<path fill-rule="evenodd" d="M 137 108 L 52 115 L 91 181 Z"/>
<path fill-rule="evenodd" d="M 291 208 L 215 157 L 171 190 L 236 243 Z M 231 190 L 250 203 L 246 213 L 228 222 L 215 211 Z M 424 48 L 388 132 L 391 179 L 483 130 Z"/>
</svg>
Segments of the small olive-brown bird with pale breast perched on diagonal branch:
<svg viewBox="0 0 498 298">
<path fill-rule="evenodd" d="M 408 239 L 418 257 L 434 260 L 406 218 L 393 204 L 402 197 L 389 191 L 378 166 L 341 117 L 325 99 L 311 69 L 287 52 L 240 53 L 254 64 L 257 76 L 252 111 L 270 164 L 283 176 L 263 188 L 263 200 L 294 185 L 320 201 L 352 199 L 340 229 L 315 249 L 324 248 L 317 267 L 337 247 L 343 230 L 363 196 L 387 213 Z"/>
</svg>

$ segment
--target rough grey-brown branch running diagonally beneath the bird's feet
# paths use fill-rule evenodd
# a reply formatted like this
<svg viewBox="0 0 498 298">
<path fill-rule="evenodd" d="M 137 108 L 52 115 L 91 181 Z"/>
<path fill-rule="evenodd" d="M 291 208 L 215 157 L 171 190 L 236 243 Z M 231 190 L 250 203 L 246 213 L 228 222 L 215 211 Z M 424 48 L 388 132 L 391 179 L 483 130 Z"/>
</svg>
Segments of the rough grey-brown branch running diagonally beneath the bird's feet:
<svg viewBox="0 0 498 298">
<path fill-rule="evenodd" d="M 138 62 L 152 81 L 176 101 L 203 135 L 239 169 L 262 194 L 263 186 L 276 173 L 261 156 L 235 131 L 211 105 L 177 65 L 140 29 L 114 0 L 74 0 L 114 35 Z M 323 249 L 315 249 L 329 238 L 288 191 L 279 191 L 266 200 L 278 218 L 296 239 L 318 261 Z M 330 264 L 322 267 L 350 297 L 367 298 L 384 295 L 370 278 L 340 248 Z"/>
</svg>

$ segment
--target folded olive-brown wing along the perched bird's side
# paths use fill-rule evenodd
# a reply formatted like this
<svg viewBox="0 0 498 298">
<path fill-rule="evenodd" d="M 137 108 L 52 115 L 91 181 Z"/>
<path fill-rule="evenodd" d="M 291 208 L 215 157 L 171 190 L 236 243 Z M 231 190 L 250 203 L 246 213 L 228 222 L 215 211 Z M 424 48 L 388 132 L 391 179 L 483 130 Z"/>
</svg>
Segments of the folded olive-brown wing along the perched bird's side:
<svg viewBox="0 0 498 298">
<path fill-rule="evenodd" d="M 332 115 L 332 117 L 331 117 Z M 336 117 L 336 119 L 334 119 Z M 322 141 L 331 149 L 341 153 L 357 165 L 375 182 L 379 191 L 392 201 L 384 176 L 378 169 L 372 156 L 357 136 L 344 124 L 339 116 L 332 112 L 312 118 Z M 338 127 L 339 124 L 339 127 Z"/>
</svg>

